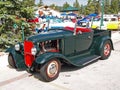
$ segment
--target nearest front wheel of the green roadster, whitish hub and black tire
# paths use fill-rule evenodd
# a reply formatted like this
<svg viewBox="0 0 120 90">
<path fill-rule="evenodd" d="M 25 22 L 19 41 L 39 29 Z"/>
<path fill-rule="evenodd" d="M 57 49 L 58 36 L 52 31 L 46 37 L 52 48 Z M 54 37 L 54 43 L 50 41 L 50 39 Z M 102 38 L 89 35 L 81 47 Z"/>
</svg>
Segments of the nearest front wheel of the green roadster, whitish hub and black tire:
<svg viewBox="0 0 120 90">
<path fill-rule="evenodd" d="M 53 81 L 59 76 L 61 69 L 61 63 L 57 59 L 51 59 L 49 62 L 45 63 L 40 69 L 40 74 L 45 81 Z"/>
</svg>

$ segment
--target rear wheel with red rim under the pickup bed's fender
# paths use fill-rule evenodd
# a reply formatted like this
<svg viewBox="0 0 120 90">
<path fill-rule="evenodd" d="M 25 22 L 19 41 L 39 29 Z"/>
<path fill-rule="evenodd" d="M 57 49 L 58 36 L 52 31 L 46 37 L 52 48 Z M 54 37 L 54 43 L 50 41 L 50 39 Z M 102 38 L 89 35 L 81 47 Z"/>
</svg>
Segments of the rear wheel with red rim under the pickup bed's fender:
<svg viewBox="0 0 120 90">
<path fill-rule="evenodd" d="M 112 49 L 111 42 L 105 41 L 103 46 L 102 46 L 102 51 L 101 51 L 101 59 L 102 60 L 105 60 L 110 56 L 111 49 Z"/>
</svg>

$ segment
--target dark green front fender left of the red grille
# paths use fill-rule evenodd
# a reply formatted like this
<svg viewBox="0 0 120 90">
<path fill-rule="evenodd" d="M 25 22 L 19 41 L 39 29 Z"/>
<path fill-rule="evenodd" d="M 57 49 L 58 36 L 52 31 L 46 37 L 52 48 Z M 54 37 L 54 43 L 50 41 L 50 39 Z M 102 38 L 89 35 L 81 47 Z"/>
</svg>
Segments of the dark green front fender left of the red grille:
<svg viewBox="0 0 120 90">
<path fill-rule="evenodd" d="M 12 54 L 17 69 L 26 69 L 24 55 L 21 52 L 16 51 L 14 47 L 7 49 L 6 52 Z"/>
</svg>

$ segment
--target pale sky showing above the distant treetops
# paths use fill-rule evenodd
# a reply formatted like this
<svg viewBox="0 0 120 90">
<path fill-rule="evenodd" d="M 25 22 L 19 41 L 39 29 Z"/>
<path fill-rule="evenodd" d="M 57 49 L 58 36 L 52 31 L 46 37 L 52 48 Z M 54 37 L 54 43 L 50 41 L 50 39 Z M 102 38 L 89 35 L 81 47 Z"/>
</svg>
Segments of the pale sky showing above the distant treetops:
<svg viewBox="0 0 120 90">
<path fill-rule="evenodd" d="M 42 0 L 44 5 L 51 5 L 51 4 L 55 4 L 57 6 L 63 6 L 63 4 L 65 2 L 69 3 L 71 6 L 73 6 L 73 3 L 75 2 L 75 0 Z M 83 4 L 86 5 L 88 0 L 78 0 L 79 4 Z M 36 3 L 38 3 L 39 0 L 36 0 Z"/>
</svg>

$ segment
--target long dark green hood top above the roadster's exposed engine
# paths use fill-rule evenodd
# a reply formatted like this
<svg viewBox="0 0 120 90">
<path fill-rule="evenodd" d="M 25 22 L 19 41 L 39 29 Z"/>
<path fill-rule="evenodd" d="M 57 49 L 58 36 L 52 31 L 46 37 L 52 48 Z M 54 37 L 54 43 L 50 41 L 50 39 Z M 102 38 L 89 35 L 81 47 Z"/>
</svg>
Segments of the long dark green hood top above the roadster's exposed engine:
<svg viewBox="0 0 120 90">
<path fill-rule="evenodd" d="M 43 31 L 37 35 L 30 36 L 26 40 L 36 43 L 36 42 L 42 42 L 46 40 L 61 39 L 71 35 L 73 35 L 73 32 L 70 32 L 67 30 L 50 30 L 46 32 Z"/>
</svg>

